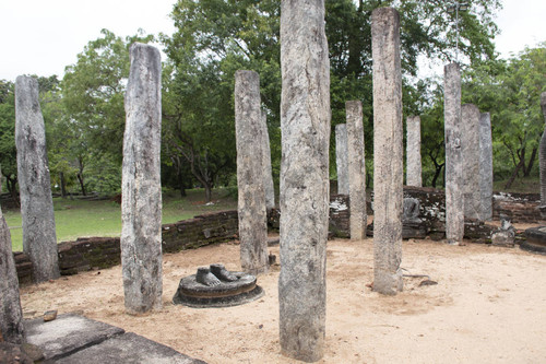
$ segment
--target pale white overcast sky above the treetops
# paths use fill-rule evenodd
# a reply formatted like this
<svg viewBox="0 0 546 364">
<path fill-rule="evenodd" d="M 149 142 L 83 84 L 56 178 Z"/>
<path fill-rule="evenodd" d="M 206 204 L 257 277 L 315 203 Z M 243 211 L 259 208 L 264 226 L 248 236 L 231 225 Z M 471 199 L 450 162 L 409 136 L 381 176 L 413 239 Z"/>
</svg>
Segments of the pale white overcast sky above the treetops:
<svg viewBox="0 0 546 364">
<path fill-rule="evenodd" d="M 62 78 L 64 67 L 107 28 L 118 36 L 171 34 L 175 0 L 1 0 L 0 79 L 20 74 Z M 505 0 L 497 50 L 503 58 L 546 40 L 546 0 Z"/>
</svg>

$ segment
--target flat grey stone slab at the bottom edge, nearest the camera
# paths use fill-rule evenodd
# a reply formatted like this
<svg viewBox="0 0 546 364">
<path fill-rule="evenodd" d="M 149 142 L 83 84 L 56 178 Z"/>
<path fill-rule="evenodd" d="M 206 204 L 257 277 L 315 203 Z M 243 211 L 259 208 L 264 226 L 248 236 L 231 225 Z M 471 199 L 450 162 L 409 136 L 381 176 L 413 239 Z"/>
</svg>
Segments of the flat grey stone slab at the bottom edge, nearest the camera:
<svg viewBox="0 0 546 364">
<path fill-rule="evenodd" d="M 56 363 L 206 364 L 133 332 L 108 339 Z"/>
</svg>

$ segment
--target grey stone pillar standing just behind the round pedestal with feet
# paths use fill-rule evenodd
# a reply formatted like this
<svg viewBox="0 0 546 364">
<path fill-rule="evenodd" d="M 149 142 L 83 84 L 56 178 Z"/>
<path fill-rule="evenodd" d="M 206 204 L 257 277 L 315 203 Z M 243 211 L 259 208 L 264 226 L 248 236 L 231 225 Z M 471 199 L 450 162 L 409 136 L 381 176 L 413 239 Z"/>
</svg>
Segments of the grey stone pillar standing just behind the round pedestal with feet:
<svg viewBox="0 0 546 364">
<path fill-rule="evenodd" d="M 235 72 L 240 263 L 251 274 L 269 270 L 261 113 L 260 77 L 254 71 Z"/>
</svg>

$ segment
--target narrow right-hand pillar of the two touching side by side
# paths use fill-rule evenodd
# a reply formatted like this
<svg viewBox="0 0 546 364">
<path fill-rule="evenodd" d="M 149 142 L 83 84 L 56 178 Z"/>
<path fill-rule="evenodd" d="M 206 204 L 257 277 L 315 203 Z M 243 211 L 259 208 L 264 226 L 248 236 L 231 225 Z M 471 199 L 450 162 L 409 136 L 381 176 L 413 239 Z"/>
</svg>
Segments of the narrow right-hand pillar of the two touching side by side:
<svg viewBox="0 0 546 364">
<path fill-rule="evenodd" d="M 479 115 L 479 220 L 492 219 L 492 140 L 489 113 Z"/>
</svg>

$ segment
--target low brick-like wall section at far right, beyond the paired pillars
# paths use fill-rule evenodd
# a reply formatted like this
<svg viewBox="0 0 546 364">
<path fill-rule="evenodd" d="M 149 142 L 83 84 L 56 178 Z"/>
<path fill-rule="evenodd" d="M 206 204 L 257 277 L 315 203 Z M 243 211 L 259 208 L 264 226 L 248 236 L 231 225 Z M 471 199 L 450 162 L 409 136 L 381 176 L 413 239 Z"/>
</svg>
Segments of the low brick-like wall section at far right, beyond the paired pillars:
<svg viewBox="0 0 546 364">
<path fill-rule="evenodd" d="M 500 219 L 500 214 L 508 216 L 513 223 L 536 224 L 544 222 L 538 206 L 538 193 L 503 193 L 496 192 L 492 197 L 492 216 Z"/>
</svg>

